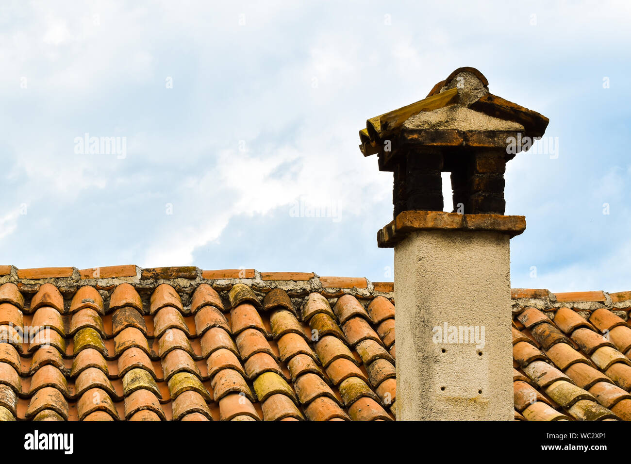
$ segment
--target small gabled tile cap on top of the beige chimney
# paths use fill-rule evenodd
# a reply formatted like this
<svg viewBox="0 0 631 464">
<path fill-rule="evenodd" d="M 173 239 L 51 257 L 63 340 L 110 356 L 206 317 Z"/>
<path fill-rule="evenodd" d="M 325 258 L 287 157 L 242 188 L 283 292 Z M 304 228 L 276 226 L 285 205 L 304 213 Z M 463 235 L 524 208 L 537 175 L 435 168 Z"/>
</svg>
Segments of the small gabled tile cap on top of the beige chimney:
<svg viewBox="0 0 631 464">
<path fill-rule="evenodd" d="M 506 145 L 507 134 L 541 137 L 548 122 L 488 92 L 484 74 L 464 67 L 433 86 L 423 100 L 368 119 L 359 132 L 360 150 L 365 157 L 379 153 L 382 168 L 387 160 L 381 158 L 394 154 L 386 144 L 395 140 L 398 145 L 498 147 Z"/>
</svg>

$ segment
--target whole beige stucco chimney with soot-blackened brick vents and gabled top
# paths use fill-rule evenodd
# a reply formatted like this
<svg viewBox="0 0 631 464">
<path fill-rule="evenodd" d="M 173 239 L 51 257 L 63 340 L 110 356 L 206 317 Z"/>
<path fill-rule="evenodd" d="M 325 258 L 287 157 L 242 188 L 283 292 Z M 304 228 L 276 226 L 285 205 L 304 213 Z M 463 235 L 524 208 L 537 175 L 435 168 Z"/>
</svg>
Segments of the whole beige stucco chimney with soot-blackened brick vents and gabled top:
<svg viewBox="0 0 631 464">
<path fill-rule="evenodd" d="M 513 419 L 509 239 L 526 219 L 504 215 L 504 171 L 547 125 L 459 68 L 360 131 L 363 155 L 394 173 L 377 244 L 394 247 L 398 420 Z"/>
</svg>

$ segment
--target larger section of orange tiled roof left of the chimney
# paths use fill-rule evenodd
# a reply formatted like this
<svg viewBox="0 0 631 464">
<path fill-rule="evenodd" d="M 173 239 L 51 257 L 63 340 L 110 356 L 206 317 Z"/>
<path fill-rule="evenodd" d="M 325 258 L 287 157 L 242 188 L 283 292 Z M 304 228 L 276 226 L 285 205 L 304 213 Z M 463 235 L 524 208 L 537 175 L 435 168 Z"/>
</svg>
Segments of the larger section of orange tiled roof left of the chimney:
<svg viewBox="0 0 631 464">
<path fill-rule="evenodd" d="M 394 419 L 391 283 L 136 266 L 0 274 L 0 419 Z"/>
</svg>

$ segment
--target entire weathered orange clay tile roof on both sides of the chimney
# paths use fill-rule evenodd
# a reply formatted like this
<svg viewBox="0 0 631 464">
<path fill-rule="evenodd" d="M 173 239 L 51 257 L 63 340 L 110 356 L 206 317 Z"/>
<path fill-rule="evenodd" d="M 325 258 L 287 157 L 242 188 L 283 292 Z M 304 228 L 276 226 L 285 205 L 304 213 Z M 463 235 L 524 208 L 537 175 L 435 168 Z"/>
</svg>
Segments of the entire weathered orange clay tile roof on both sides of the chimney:
<svg viewBox="0 0 631 464">
<path fill-rule="evenodd" d="M 0 419 L 391 420 L 393 296 L 314 273 L 0 266 Z M 516 419 L 631 419 L 631 292 L 512 297 Z"/>
</svg>

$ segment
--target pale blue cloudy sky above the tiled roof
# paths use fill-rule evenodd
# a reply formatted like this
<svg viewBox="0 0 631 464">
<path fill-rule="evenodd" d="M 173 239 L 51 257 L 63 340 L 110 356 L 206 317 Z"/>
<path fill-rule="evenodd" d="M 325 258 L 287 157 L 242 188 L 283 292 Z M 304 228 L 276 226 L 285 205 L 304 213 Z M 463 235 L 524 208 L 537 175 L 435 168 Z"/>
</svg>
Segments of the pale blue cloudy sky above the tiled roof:
<svg viewBox="0 0 631 464">
<path fill-rule="evenodd" d="M 0 264 L 392 281 L 392 174 L 358 131 L 473 66 L 556 147 L 507 165 L 512 287 L 631 290 L 630 20 L 626 1 L 0 1 Z"/>
</svg>

